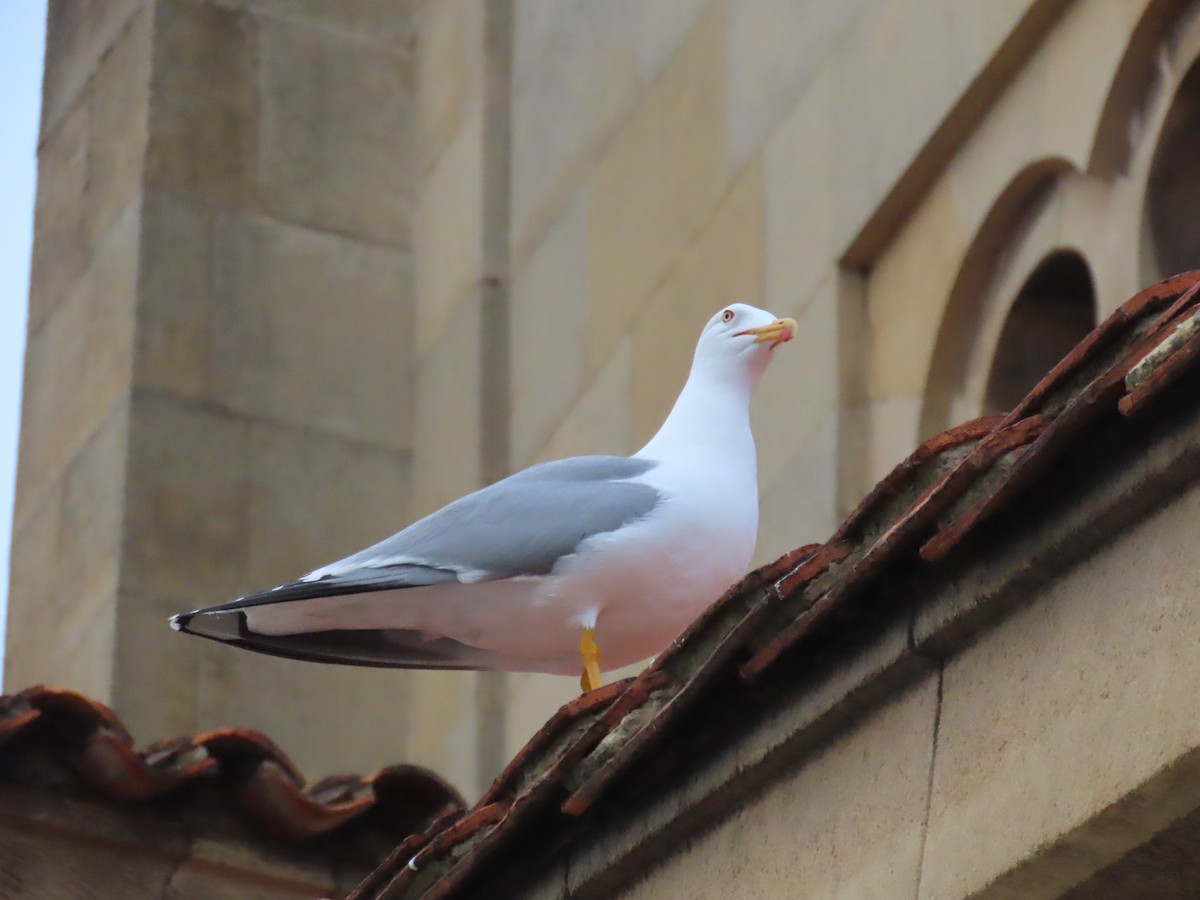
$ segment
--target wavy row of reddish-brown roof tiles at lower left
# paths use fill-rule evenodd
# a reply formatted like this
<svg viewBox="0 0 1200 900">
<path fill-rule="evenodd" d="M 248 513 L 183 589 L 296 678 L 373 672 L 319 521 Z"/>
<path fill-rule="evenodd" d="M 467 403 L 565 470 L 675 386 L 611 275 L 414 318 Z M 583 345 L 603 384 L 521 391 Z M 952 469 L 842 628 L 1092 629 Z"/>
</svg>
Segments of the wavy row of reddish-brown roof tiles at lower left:
<svg viewBox="0 0 1200 900">
<path fill-rule="evenodd" d="M 336 832 L 340 839 L 358 834 L 394 846 L 439 816 L 445 821 L 461 815 L 463 808 L 452 787 L 415 766 L 307 785 L 258 732 L 221 728 L 138 751 L 108 707 L 74 691 L 37 686 L 0 697 L 0 780 L 37 781 L 47 768 L 82 781 L 103 800 L 122 804 L 170 800 L 197 787 L 215 787 L 229 812 L 286 842 Z"/>
</svg>

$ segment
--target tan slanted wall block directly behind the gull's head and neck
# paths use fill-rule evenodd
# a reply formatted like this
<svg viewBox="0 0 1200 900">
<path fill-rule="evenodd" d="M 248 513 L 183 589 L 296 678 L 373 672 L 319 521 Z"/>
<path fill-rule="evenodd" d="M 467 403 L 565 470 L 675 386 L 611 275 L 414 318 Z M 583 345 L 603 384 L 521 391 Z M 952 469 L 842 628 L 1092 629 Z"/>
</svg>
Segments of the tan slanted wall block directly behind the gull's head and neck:
<svg viewBox="0 0 1200 900">
<path fill-rule="evenodd" d="M 700 332 L 721 307 L 763 300 L 762 167 L 751 166 L 632 324 L 635 443 L 653 437 L 691 368 Z"/>
</svg>

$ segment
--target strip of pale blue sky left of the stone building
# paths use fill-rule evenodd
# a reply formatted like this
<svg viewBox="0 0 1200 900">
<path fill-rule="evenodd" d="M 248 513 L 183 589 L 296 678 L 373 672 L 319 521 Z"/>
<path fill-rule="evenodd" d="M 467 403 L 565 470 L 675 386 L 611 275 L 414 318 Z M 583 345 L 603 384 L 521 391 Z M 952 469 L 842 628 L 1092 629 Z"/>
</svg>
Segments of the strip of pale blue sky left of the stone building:
<svg viewBox="0 0 1200 900">
<path fill-rule="evenodd" d="M 34 234 L 37 121 L 42 108 L 46 0 L 0 0 L 0 654 L 8 605 L 8 545 L 25 359 Z"/>
</svg>

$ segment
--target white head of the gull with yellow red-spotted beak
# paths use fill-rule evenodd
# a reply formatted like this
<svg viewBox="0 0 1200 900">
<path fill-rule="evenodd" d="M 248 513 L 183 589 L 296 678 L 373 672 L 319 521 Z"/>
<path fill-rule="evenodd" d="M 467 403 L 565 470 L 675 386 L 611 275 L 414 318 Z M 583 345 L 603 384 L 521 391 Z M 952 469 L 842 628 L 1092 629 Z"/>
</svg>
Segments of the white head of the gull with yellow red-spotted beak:
<svg viewBox="0 0 1200 900">
<path fill-rule="evenodd" d="M 749 304 L 730 304 L 704 325 L 692 370 L 754 386 L 781 343 L 796 336 L 796 319 L 781 319 Z"/>
</svg>

